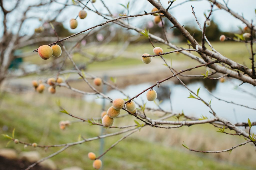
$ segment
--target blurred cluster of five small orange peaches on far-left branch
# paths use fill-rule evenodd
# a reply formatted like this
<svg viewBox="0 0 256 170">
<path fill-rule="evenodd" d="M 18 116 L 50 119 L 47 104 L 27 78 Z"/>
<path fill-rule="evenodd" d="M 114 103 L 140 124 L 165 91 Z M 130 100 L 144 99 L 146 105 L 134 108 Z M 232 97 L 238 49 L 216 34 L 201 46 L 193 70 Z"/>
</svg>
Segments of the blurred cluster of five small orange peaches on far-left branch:
<svg viewBox="0 0 256 170">
<path fill-rule="evenodd" d="M 51 94 L 54 94 L 56 92 L 56 87 L 54 85 L 55 82 L 62 83 L 63 79 L 61 77 L 58 77 L 58 79 L 56 80 L 55 78 L 51 77 L 47 80 L 47 84 L 50 85 L 48 87 L 48 91 Z M 32 84 L 38 93 L 42 93 L 45 89 L 45 85 L 43 84 L 43 82 L 41 80 L 39 80 L 39 81 L 33 80 Z"/>
</svg>

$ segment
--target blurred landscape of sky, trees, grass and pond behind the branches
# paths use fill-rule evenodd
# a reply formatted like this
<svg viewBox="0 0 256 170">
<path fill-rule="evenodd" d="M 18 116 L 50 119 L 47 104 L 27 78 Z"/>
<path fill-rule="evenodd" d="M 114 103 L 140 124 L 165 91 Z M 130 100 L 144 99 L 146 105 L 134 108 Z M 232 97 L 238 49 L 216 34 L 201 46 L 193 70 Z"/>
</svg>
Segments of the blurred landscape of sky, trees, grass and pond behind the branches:
<svg viewBox="0 0 256 170">
<path fill-rule="evenodd" d="M 84 4 L 87 1 L 81 1 Z M 124 8 L 129 2 L 129 8 Z M 161 1 L 164 7 L 167 7 L 167 0 Z M 74 70 L 72 63 L 66 58 L 61 68 L 61 61 L 66 57 L 62 50 L 62 55 L 58 58 L 51 57 L 49 60 L 42 60 L 36 52 L 33 52 L 41 45 L 46 45 L 57 41 L 54 31 L 49 23 L 52 23 L 60 38 L 67 37 L 80 32 L 94 25 L 106 21 L 95 12 L 88 10 L 85 19 L 78 18 L 78 27 L 71 30 L 69 21 L 76 18 L 78 12 L 82 9 L 80 3 L 76 0 L 55 0 L 55 1 L 20 1 L 16 7 L 17 1 L 1 1 L 6 10 L 15 8 L 4 17 L 3 9 L 0 20 L 1 48 L 10 47 L 10 38 L 19 37 L 14 43 L 10 53 L 10 62 L 7 69 L 2 70 L 6 76 L 1 77 L 0 93 L 0 133 L 11 134 L 15 128 L 15 138 L 28 143 L 37 142 L 40 145 L 53 145 L 61 143 L 70 143 L 79 140 L 79 136 L 90 138 L 98 136 L 101 133 L 111 133 L 116 129 L 106 129 L 99 126 L 90 126 L 87 122 L 77 122 L 76 119 L 63 114 L 60 111 L 58 103 L 71 114 L 84 118 L 100 117 L 103 110 L 108 109 L 111 103 L 93 95 L 78 94 L 65 87 L 57 87 L 56 94 L 35 92 L 32 86 L 33 80 L 45 81 L 49 77 L 56 76 L 59 69 Z M 104 1 L 109 7 L 114 17 L 119 14 L 143 14 L 144 11 L 151 12 L 153 6 L 147 1 L 127 1 L 113 0 Z M 220 1 L 220 3 L 223 3 Z M 38 5 L 40 4 L 40 5 Z M 66 5 L 65 5 L 66 4 Z M 121 5 L 120 5 L 121 4 Z M 27 10 L 28 6 L 29 10 Z M 208 14 L 210 3 L 208 1 L 176 1 L 170 8 L 170 13 L 184 25 L 184 27 L 194 34 L 198 42 L 201 39 L 201 31 L 192 14 L 191 5 L 193 5 L 198 20 L 204 23 L 204 13 Z M 100 0 L 95 3 L 89 2 L 87 6 L 92 10 L 98 10 L 103 14 L 108 11 L 104 8 Z M 255 23 L 256 3 L 254 0 L 233 0 L 228 2 L 228 7 L 242 15 L 248 21 Z M 107 18 L 111 18 L 108 16 Z M 222 55 L 250 67 L 250 47 L 249 43 L 239 43 L 232 41 L 220 42 L 219 36 L 224 34 L 227 37 L 237 38 L 250 30 L 246 25 L 228 12 L 214 7 L 211 24 L 206 28 L 206 36 L 213 47 Z M 143 17 L 134 17 L 122 19 L 124 22 L 144 30 L 146 28 L 150 33 L 164 39 L 162 24 L 154 23 L 154 16 L 147 15 Z M 189 48 L 189 42 L 166 18 L 163 18 L 164 27 L 167 31 L 169 42 L 178 47 Z M 6 24 L 6 28 L 4 25 Z M 41 30 L 35 31 L 40 28 Z M 6 34 L 8 32 L 8 34 Z M 70 50 L 81 38 L 89 31 L 79 34 L 63 41 L 68 50 Z M 8 35 L 8 36 L 5 36 Z M 255 37 L 255 35 L 254 35 Z M 163 48 L 164 52 L 173 49 L 168 46 L 154 42 L 155 46 Z M 255 48 L 255 47 L 254 47 Z M 144 64 L 141 61 L 141 55 L 144 53 L 153 54 L 153 47 L 148 39 L 136 31 L 123 28 L 115 23 L 108 23 L 102 27 L 93 29 L 88 36 L 77 43 L 71 56 L 80 69 L 85 72 L 101 77 L 120 89 L 130 97 L 137 95 L 145 88 L 153 85 L 156 81 L 162 80 L 172 73 L 164 66 L 161 58 L 154 57 L 150 64 Z M 255 49 L 256 50 L 256 49 Z M 4 50 L 3 50 L 4 51 Z M 1 53 L 3 53 L 1 51 Z M 194 55 L 198 54 L 191 52 Z M 181 53 L 172 53 L 165 55 L 164 58 L 177 71 L 187 69 L 198 65 L 197 61 L 191 60 Z M 194 69 L 186 74 L 205 74 L 208 68 Z M 79 90 L 93 92 L 90 87 L 81 79 L 77 73 L 61 74 L 63 79 L 67 80 L 70 86 Z M 224 82 L 219 80 L 209 80 L 203 78 L 180 77 L 187 86 L 196 91 L 200 87 L 199 95 L 206 101 L 211 100 L 211 106 L 215 112 L 233 123 L 256 121 L 255 110 L 239 107 L 237 105 L 225 103 L 214 98 L 211 93 L 221 99 L 233 101 L 252 108 L 255 108 L 256 89 L 250 84 L 243 84 L 239 80 L 226 78 Z M 90 80 L 92 83 L 92 80 Z M 96 87 L 101 92 L 111 98 L 126 98 L 119 91 L 109 87 Z M 154 88 L 158 97 L 156 102 L 147 102 L 148 108 L 161 108 L 165 111 L 175 113 L 184 113 L 185 115 L 202 117 L 212 117 L 202 102 L 187 98 L 188 90 L 179 84 L 177 79 L 172 78 L 161 84 L 160 88 Z M 210 93 L 209 93 L 209 92 Z M 141 95 L 135 99 L 142 104 L 146 101 L 146 96 Z M 127 114 L 121 111 L 122 115 Z M 152 118 L 161 116 L 161 112 L 152 112 L 146 110 L 146 114 Z M 179 120 L 180 117 L 173 117 L 170 120 Z M 66 129 L 61 130 L 59 122 L 61 120 L 70 120 L 72 124 Z M 125 126 L 134 124 L 133 116 L 125 116 L 114 122 L 114 126 Z M 243 128 L 243 127 L 241 127 Z M 244 129 L 244 128 L 243 128 Z M 231 148 L 244 142 L 240 136 L 228 136 L 216 132 L 218 130 L 212 125 L 194 125 L 191 127 L 182 127 L 178 129 L 158 129 L 145 127 L 140 132 L 136 132 L 125 139 L 111 151 L 102 157 L 102 169 L 255 169 L 255 148 L 248 144 L 239 147 L 232 152 L 219 154 L 194 153 L 182 147 L 185 142 L 187 146 L 196 150 L 223 150 Z M 248 130 L 248 129 L 247 129 Z M 252 127 L 252 132 L 256 132 Z M 119 140 L 122 135 L 106 138 L 102 141 L 95 140 L 86 142 L 82 145 L 74 146 L 53 157 L 51 161 L 45 163 L 45 169 L 63 169 L 77 166 L 82 169 L 93 169 L 92 161 L 88 159 L 88 152 L 94 152 L 100 155 L 108 149 L 114 142 Z M 43 158 L 57 151 L 57 148 L 24 148 L 23 145 L 15 145 L 11 142 L 6 146 L 8 139 L 1 137 L 0 155 L 10 156 L 14 159 L 20 158 L 20 155 L 29 152 L 34 154 L 32 157 Z M 6 150 L 14 149 L 14 150 Z M 4 150 L 5 149 L 5 150 Z M 33 152 L 30 152 L 33 151 Z M 36 153 L 34 152 L 36 151 Z M 12 154 L 10 154 L 12 153 Z M 31 155 L 30 155 L 31 156 Z M 29 157 L 29 156 L 28 156 Z M 0 157 L 2 163 L 9 163 Z M 28 159 L 28 158 L 27 158 Z M 25 169 L 29 163 L 14 161 L 9 164 L 16 165 L 20 169 Z M 5 169 L 5 164 L 0 165 L 0 169 Z M 7 166 L 7 165 L 6 165 Z M 22 167 L 23 166 L 23 167 Z M 13 167 L 14 168 L 14 167 Z M 15 169 L 15 168 L 14 168 Z M 74 169 L 75 170 L 75 169 Z"/>
</svg>

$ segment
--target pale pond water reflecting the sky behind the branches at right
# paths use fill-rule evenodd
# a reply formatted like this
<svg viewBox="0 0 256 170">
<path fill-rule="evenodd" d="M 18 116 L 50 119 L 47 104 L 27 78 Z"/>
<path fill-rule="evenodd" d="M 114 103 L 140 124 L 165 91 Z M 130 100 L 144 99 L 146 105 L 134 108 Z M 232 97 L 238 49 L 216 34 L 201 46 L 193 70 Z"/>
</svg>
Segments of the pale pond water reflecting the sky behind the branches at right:
<svg viewBox="0 0 256 170">
<path fill-rule="evenodd" d="M 232 101 L 234 103 L 240 103 L 245 106 L 256 108 L 256 97 L 252 95 L 256 95 L 256 87 L 248 83 L 244 83 L 238 88 L 236 85 L 241 84 L 239 80 L 229 79 L 224 83 L 220 83 L 219 81 L 212 81 L 207 79 L 192 79 L 191 82 L 186 83 L 188 88 L 193 91 L 197 91 L 200 87 L 199 96 L 205 101 L 211 100 L 211 106 L 213 110 L 217 113 L 217 115 L 233 122 L 247 122 L 249 118 L 251 122 L 256 121 L 256 110 L 248 109 L 245 107 L 237 106 L 231 103 L 226 103 L 224 101 L 220 101 L 214 98 L 207 90 L 209 89 L 211 93 L 220 98 L 227 101 Z M 150 87 L 152 83 L 143 83 L 137 85 L 129 85 L 123 89 L 124 93 L 129 94 L 130 97 L 133 97 L 143 91 L 144 89 Z M 209 113 L 210 109 L 201 101 L 193 98 L 188 98 L 189 91 L 180 84 L 174 84 L 172 81 L 166 81 L 160 84 L 160 88 L 154 87 L 158 96 L 157 103 L 160 100 L 163 100 L 159 106 L 165 110 L 170 111 L 170 101 L 169 101 L 169 89 L 171 90 L 171 103 L 172 108 L 175 113 L 181 113 L 182 111 L 186 115 L 192 115 L 196 117 L 200 117 L 201 115 L 209 117 L 213 117 L 211 113 Z M 245 93 L 243 90 L 246 90 L 248 93 Z M 119 91 L 111 90 L 107 93 L 111 98 L 125 98 Z M 102 103 L 102 99 L 95 99 L 95 96 L 85 96 L 87 101 L 95 101 L 97 103 Z M 158 108 L 157 105 L 152 101 L 147 101 L 146 93 L 140 95 L 135 99 L 136 102 L 142 104 L 142 101 L 146 102 L 146 107 L 150 108 Z M 256 128 L 253 129 L 255 131 Z"/>
</svg>

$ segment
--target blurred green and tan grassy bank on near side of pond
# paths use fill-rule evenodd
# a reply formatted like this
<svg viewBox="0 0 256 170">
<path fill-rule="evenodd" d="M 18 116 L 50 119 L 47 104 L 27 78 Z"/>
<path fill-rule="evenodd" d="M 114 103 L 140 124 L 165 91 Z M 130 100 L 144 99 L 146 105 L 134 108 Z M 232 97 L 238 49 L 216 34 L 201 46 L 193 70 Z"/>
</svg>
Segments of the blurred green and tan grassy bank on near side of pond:
<svg viewBox="0 0 256 170">
<path fill-rule="evenodd" d="M 100 135 L 101 127 L 90 126 L 88 123 L 73 123 L 65 130 L 60 130 L 60 120 L 74 120 L 72 117 L 60 113 L 56 101 L 74 115 L 82 117 L 98 117 L 101 106 L 88 103 L 79 98 L 67 98 L 55 95 L 28 93 L 6 94 L 0 105 L 0 133 L 11 135 L 16 128 L 15 138 L 25 142 L 37 142 L 41 145 L 74 142 L 78 136 L 90 138 Z M 121 113 L 126 114 L 126 113 Z M 150 114 L 150 113 L 148 113 Z M 153 115 L 152 115 L 153 116 Z M 154 116 L 153 116 L 154 117 Z M 114 125 L 124 126 L 133 124 L 134 118 L 126 116 L 116 119 Z M 3 131 L 3 126 L 8 130 Z M 240 142 L 242 137 L 227 136 L 216 132 L 210 125 L 199 125 L 179 129 L 157 129 L 145 127 L 128 137 L 103 157 L 103 168 L 111 169 L 225 169 L 243 170 L 255 169 L 255 151 L 252 146 L 239 147 L 231 153 L 218 155 L 197 154 L 187 151 L 181 146 L 183 141 L 190 147 L 198 150 L 219 150 L 230 148 Z M 118 131 L 105 129 L 105 133 Z M 107 149 L 123 135 L 106 138 L 104 148 Z M 7 139 L 0 137 L 0 148 L 5 148 Z M 59 168 L 80 166 L 84 169 L 93 169 L 92 161 L 87 158 L 88 152 L 99 155 L 100 142 L 98 140 L 73 146 L 52 158 Z M 18 152 L 36 150 L 42 156 L 57 151 L 49 148 L 47 152 L 41 148 L 15 145 L 11 142 L 9 148 Z"/>
</svg>

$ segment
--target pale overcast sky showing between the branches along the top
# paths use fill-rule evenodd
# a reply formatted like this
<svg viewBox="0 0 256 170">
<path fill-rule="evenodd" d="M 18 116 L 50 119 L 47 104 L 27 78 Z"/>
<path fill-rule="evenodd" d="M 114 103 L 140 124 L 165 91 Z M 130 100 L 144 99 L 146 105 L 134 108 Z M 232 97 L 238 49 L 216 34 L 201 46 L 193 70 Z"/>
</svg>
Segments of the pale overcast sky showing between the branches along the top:
<svg viewBox="0 0 256 170">
<path fill-rule="evenodd" d="M 56 0 L 57 2 L 64 3 L 66 0 Z M 86 2 L 87 0 L 83 0 L 82 2 Z M 184 2 L 186 0 L 176 0 L 172 7 Z M 227 1 L 227 0 L 225 0 Z M 13 4 L 15 4 L 16 0 L 6 0 L 4 5 L 6 8 L 11 8 Z M 13 23 L 16 23 L 20 20 L 21 16 L 19 14 L 20 11 L 22 11 L 22 8 L 25 9 L 26 5 L 28 4 L 36 4 L 40 2 L 39 0 L 22 0 L 22 5 L 19 10 L 17 10 L 14 14 L 8 16 L 8 21 L 12 21 L 8 23 L 8 27 L 10 28 Z M 43 2 L 47 2 L 47 0 L 43 0 Z M 72 4 L 72 1 L 68 1 L 69 4 Z M 110 8 L 111 12 L 118 16 L 119 13 L 124 12 L 126 13 L 124 7 L 122 7 L 119 3 L 126 5 L 129 1 L 128 0 L 105 0 L 105 4 Z M 146 0 L 137 0 L 132 1 L 133 3 L 130 4 L 130 15 L 138 14 L 138 13 L 144 13 L 145 11 L 150 12 L 153 8 L 153 6 L 147 2 Z M 164 7 L 167 7 L 168 0 L 161 0 Z M 218 1 L 220 3 L 223 3 L 223 1 Z M 170 9 L 170 13 L 177 18 L 177 20 L 182 25 L 196 25 L 195 18 L 192 14 L 191 5 L 194 6 L 194 10 L 196 12 L 197 18 L 200 23 L 203 23 L 205 20 L 204 12 L 208 14 L 208 10 L 210 10 L 210 3 L 207 0 L 199 0 L 199 1 L 189 1 L 186 2 L 183 5 L 177 6 L 173 9 Z M 107 13 L 106 10 L 103 8 L 102 3 L 100 0 L 96 0 L 94 3 L 94 6 L 101 12 Z M 39 16 L 43 18 L 44 20 L 47 20 L 51 18 L 52 12 L 56 10 L 57 8 L 60 8 L 60 4 L 56 4 L 51 7 L 44 7 L 36 9 L 34 12 L 30 12 L 27 15 L 28 16 Z M 93 8 L 91 3 L 88 3 L 88 7 Z M 255 15 L 255 8 L 256 8 L 256 0 L 229 0 L 228 7 L 232 9 L 233 11 L 236 11 L 238 14 L 243 15 L 244 18 L 247 20 L 253 20 L 254 24 L 256 21 L 256 15 Z M 216 7 L 217 9 L 217 7 Z M 81 30 L 87 29 L 89 27 L 92 27 L 96 24 L 99 24 L 101 22 L 104 22 L 105 19 L 102 19 L 102 17 L 98 16 L 97 14 L 88 11 L 88 15 L 85 19 L 81 20 L 78 18 L 78 27 L 74 30 L 71 30 L 69 28 L 69 20 L 71 18 L 75 18 L 78 14 L 78 12 L 81 10 L 81 7 L 78 6 L 70 6 L 65 11 L 62 11 L 60 17 L 58 17 L 58 21 L 63 22 L 64 26 L 68 28 L 71 32 L 79 32 Z M 1 12 L 1 22 L 3 20 L 3 14 Z M 141 28 L 146 27 L 148 21 L 153 21 L 153 16 L 143 16 L 143 17 L 136 17 L 133 19 L 130 19 L 130 23 L 134 24 L 136 26 L 139 26 Z M 229 14 L 225 10 L 216 10 L 212 13 L 211 19 L 214 19 L 215 22 L 217 22 L 221 28 L 222 31 L 234 31 L 238 30 L 238 26 L 244 27 L 245 25 L 242 24 L 242 22 L 236 18 L 234 18 L 231 14 Z M 34 29 L 39 27 L 42 24 L 42 22 L 38 21 L 38 19 L 31 19 L 26 22 L 26 25 L 23 27 L 24 34 L 33 34 Z M 0 28 L 1 34 L 3 31 L 3 26 Z M 0 34 L 0 36 L 1 36 Z"/>
</svg>

